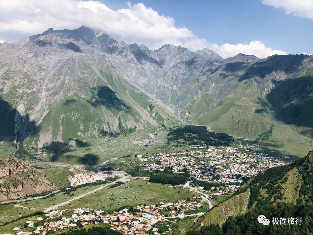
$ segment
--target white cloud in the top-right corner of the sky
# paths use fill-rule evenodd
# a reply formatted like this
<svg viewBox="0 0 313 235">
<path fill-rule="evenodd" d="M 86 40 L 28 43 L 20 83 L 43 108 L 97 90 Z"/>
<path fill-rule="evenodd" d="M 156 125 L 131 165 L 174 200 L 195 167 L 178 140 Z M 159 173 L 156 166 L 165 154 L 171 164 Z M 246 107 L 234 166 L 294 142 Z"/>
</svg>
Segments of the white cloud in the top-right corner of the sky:
<svg viewBox="0 0 313 235">
<path fill-rule="evenodd" d="M 286 14 L 313 19 L 312 0 L 263 0 L 264 5 L 283 8 Z"/>
</svg>

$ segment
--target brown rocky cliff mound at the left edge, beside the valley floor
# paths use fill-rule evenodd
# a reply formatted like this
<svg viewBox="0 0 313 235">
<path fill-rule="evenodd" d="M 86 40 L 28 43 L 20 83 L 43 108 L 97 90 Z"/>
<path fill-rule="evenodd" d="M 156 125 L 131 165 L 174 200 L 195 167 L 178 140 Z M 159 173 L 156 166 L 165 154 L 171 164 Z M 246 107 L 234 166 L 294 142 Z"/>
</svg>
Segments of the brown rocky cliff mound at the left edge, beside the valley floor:
<svg viewBox="0 0 313 235">
<path fill-rule="evenodd" d="M 46 175 L 28 162 L 0 156 L 0 200 L 38 194 L 55 188 Z"/>
</svg>

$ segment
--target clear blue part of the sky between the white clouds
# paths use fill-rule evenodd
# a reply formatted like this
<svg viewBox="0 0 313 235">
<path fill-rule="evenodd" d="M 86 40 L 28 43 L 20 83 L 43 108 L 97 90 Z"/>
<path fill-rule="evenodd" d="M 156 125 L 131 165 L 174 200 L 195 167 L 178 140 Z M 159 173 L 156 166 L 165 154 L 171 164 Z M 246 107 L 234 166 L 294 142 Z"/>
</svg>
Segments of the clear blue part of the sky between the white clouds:
<svg viewBox="0 0 313 235">
<path fill-rule="evenodd" d="M 283 0 L 282 0 L 283 1 Z M 101 1 L 111 9 L 125 8 L 123 0 Z M 261 40 L 266 46 L 288 54 L 313 52 L 313 20 L 285 14 L 283 9 L 261 0 L 141 0 L 159 14 L 175 19 L 199 38 L 215 44 L 249 43 Z"/>
</svg>

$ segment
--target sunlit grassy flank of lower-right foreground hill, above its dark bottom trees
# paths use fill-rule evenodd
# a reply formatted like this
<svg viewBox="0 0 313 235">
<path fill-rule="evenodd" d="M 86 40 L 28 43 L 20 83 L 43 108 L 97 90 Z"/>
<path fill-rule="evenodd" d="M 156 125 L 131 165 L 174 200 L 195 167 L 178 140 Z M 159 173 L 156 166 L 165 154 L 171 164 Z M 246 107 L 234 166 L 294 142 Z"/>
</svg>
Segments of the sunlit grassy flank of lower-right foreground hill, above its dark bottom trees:
<svg viewBox="0 0 313 235">
<path fill-rule="evenodd" d="M 284 210 L 284 206 L 286 207 L 285 212 L 283 211 L 285 216 L 293 213 L 293 210 L 295 213 L 299 213 L 296 211 L 301 208 L 301 214 L 310 214 L 310 209 L 308 211 L 310 206 L 304 208 L 303 205 L 311 205 L 313 200 L 312 165 L 313 152 L 311 151 L 306 157 L 293 164 L 260 172 L 248 185 L 207 212 L 200 220 L 201 225 L 219 224 L 221 226 L 226 221 L 225 228 L 223 225 L 223 231 L 226 232 L 230 227 L 229 223 L 235 222 L 241 230 L 241 233 L 238 233 L 242 234 L 243 231 L 255 229 L 253 226 L 257 227 L 257 222 L 254 221 L 250 222 L 253 224 L 250 228 L 243 226 L 247 221 L 249 223 L 250 220 L 256 220 L 256 214 L 270 217 L 269 213 L 273 215 L 280 213 Z M 288 207 L 290 207 L 290 211 L 288 211 Z M 310 221 L 310 217 L 304 219 L 307 222 Z M 274 234 L 273 231 L 270 234 Z"/>
</svg>

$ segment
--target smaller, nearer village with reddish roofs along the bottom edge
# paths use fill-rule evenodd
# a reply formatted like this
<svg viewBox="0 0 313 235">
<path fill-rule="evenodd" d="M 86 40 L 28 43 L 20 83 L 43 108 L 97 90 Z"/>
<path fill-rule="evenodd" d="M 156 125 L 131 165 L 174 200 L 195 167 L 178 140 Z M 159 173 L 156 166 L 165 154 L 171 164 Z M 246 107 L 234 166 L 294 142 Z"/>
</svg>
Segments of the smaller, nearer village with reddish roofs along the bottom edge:
<svg viewBox="0 0 313 235">
<path fill-rule="evenodd" d="M 142 204 L 110 212 L 89 208 L 77 208 L 72 213 L 69 210 L 52 211 L 33 221 L 27 221 L 25 226 L 15 227 L 13 230 L 24 230 L 17 232 L 16 235 L 32 233 L 45 235 L 55 231 L 69 230 L 71 227 L 82 228 L 88 224 L 104 223 L 110 226 L 111 230 L 119 231 L 124 235 L 157 235 L 170 232 L 170 225 L 176 218 L 203 215 L 208 207 L 200 201 L 201 197 L 193 196 L 189 201 Z"/>
</svg>

